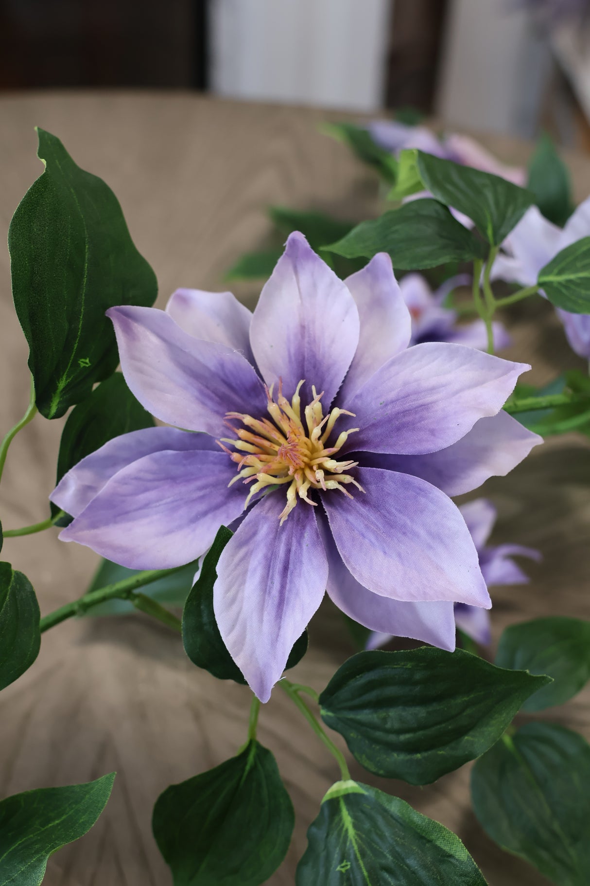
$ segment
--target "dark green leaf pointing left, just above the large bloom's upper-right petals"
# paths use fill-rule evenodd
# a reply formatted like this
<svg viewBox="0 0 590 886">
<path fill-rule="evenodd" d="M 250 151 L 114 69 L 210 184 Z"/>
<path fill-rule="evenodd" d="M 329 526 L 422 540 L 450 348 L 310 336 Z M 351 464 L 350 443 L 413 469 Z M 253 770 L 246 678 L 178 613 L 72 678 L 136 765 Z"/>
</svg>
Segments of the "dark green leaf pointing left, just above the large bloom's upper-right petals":
<svg viewBox="0 0 590 886">
<path fill-rule="evenodd" d="M 400 270 L 434 268 L 447 261 L 472 261 L 485 257 L 484 245 L 449 213 L 429 198 L 412 200 L 390 209 L 374 221 L 361 221 L 326 251 L 354 259 L 372 259 L 389 253 Z"/>
</svg>

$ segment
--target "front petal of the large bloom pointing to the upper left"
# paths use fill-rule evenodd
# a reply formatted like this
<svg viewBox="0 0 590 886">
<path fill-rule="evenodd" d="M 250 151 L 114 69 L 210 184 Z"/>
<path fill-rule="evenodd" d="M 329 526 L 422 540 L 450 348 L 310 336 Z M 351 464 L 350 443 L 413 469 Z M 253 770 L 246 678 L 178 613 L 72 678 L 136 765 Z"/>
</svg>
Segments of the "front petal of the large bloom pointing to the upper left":
<svg viewBox="0 0 590 886">
<path fill-rule="evenodd" d="M 127 385 L 153 416 L 189 431 L 224 436 L 226 412 L 264 415 L 264 386 L 249 362 L 198 341 L 153 307 L 111 307 Z"/>
</svg>

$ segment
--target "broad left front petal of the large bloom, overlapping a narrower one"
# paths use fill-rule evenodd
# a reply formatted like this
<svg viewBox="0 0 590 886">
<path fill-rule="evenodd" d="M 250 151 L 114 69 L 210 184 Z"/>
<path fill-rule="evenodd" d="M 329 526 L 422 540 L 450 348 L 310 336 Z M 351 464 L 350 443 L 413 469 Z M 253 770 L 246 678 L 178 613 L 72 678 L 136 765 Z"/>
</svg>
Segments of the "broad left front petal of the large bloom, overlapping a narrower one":
<svg viewBox="0 0 590 886">
<path fill-rule="evenodd" d="M 129 569 L 171 569 L 201 556 L 220 525 L 239 517 L 247 490 L 227 484 L 234 463 L 223 452 L 144 455 L 106 483 L 61 532 Z"/>
</svg>

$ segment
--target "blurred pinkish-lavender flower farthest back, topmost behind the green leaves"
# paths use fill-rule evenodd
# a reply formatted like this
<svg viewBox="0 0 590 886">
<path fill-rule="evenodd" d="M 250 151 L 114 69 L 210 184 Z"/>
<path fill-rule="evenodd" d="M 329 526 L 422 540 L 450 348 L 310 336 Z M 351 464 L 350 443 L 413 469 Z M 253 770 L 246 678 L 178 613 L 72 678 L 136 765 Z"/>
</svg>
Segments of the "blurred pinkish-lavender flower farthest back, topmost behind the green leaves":
<svg viewBox="0 0 590 886">
<path fill-rule="evenodd" d="M 427 154 L 434 154 L 441 159 L 452 160 L 462 166 L 470 166 L 500 175 L 509 182 L 525 186 L 526 170 L 524 167 L 510 167 L 501 163 L 475 139 L 460 136 L 457 133 L 436 136 L 432 129 L 425 126 L 406 126 L 396 120 L 372 120 L 368 124 L 373 141 L 385 151 L 399 155 L 408 148 L 417 148 Z"/>
</svg>

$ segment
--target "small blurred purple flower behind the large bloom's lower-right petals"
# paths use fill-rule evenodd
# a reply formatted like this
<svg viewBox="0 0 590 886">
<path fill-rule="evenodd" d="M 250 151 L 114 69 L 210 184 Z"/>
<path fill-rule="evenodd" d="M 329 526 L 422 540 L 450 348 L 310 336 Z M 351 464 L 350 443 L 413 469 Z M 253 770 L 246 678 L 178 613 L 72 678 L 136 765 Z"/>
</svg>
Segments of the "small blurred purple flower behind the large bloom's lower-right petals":
<svg viewBox="0 0 590 886">
<path fill-rule="evenodd" d="M 475 499 L 461 505 L 459 510 L 471 532 L 479 556 L 479 568 L 487 587 L 526 584 L 528 576 L 511 558 L 525 556 L 539 562 L 540 552 L 534 548 L 524 548 L 522 545 L 504 544 L 495 547 L 487 545 L 497 517 L 497 511 L 491 501 L 483 498 Z M 479 606 L 456 603 L 455 623 L 460 630 L 482 646 L 487 646 L 492 641 L 489 612 Z M 392 634 L 389 633 L 372 632 L 366 648 L 379 649 L 379 646 L 383 646 L 391 638 Z"/>
</svg>

